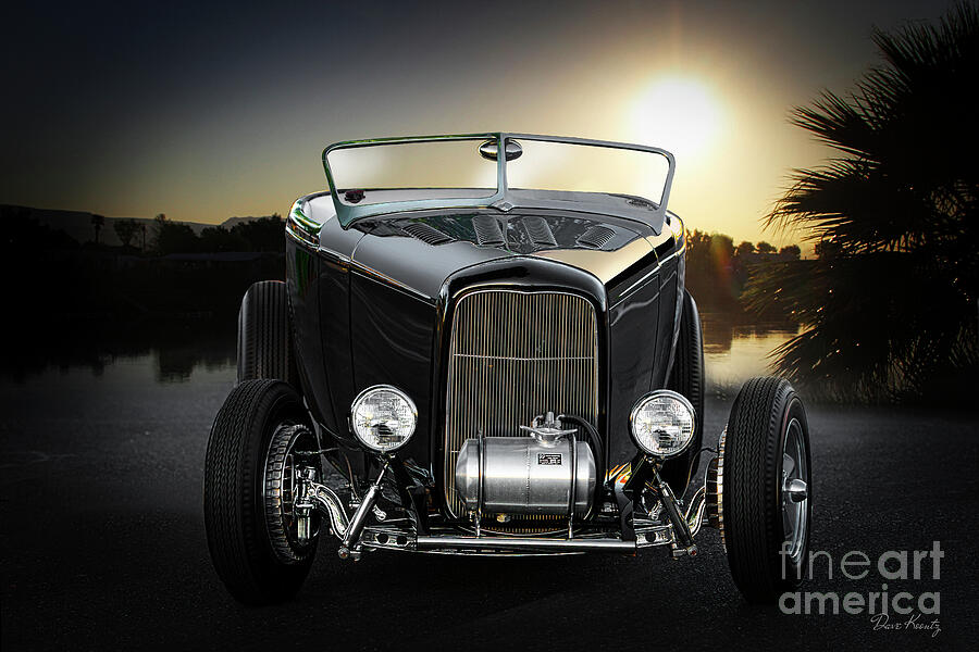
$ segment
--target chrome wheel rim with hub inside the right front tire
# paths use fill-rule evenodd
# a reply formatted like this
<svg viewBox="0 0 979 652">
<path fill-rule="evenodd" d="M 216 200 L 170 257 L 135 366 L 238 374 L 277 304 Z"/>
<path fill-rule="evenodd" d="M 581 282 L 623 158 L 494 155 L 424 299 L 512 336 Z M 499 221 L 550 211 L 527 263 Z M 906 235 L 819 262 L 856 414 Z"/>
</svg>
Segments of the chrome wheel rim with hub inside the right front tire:
<svg viewBox="0 0 979 652">
<path fill-rule="evenodd" d="M 802 560 L 809 526 L 809 468 L 806 442 L 802 425 L 793 418 L 785 428 L 782 440 L 782 464 L 780 469 L 782 501 L 782 534 L 784 549 L 793 564 Z"/>
</svg>

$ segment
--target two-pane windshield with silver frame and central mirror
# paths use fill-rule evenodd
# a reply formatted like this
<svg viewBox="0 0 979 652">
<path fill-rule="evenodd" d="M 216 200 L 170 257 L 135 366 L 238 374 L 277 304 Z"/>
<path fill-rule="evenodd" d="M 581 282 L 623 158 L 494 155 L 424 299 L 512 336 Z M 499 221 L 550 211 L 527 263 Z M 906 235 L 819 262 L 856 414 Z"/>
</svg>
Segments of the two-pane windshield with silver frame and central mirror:
<svg viewBox="0 0 979 652">
<path fill-rule="evenodd" d="M 658 233 L 673 174 L 657 148 L 530 134 L 342 142 L 323 164 L 344 226 L 388 212 L 519 206 L 617 214 Z"/>
</svg>

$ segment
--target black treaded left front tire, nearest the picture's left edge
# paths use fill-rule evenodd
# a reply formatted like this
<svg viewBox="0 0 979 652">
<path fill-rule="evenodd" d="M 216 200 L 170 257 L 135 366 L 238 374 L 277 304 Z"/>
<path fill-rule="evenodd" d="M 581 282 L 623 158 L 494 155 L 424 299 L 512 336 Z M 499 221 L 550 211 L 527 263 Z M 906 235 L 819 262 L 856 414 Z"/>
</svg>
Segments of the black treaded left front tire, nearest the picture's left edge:
<svg viewBox="0 0 979 652">
<path fill-rule="evenodd" d="M 281 380 L 246 380 L 228 394 L 211 428 L 203 491 L 208 548 L 218 576 L 246 604 L 292 598 L 312 565 L 317 538 L 299 546 L 284 537 L 280 514 L 273 514 L 283 497 L 267 489 L 281 486 L 275 464 L 288 447 L 309 441 L 307 422 L 295 389 Z"/>
</svg>

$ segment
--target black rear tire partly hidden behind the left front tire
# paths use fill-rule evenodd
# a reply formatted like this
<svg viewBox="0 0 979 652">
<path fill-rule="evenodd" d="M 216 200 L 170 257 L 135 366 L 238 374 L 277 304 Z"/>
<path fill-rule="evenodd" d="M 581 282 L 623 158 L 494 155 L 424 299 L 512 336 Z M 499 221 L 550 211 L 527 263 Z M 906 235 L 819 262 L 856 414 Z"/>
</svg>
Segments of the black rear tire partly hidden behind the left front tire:
<svg viewBox="0 0 979 652">
<path fill-rule="evenodd" d="M 238 311 L 238 383 L 273 378 L 298 388 L 294 350 L 286 284 L 253 284 Z"/>
</svg>

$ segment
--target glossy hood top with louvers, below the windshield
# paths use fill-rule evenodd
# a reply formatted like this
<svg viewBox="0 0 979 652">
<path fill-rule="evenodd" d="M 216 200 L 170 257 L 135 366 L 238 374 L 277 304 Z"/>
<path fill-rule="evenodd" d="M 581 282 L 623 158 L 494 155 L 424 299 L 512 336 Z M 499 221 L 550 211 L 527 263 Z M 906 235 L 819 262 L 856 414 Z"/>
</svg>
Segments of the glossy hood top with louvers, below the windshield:
<svg viewBox="0 0 979 652">
<path fill-rule="evenodd" d="M 499 259 L 549 259 L 605 285 L 656 260 L 649 227 L 583 213 L 413 213 L 359 221 L 350 229 L 363 234 L 352 251 L 356 263 L 433 299 L 451 274 Z"/>
</svg>

